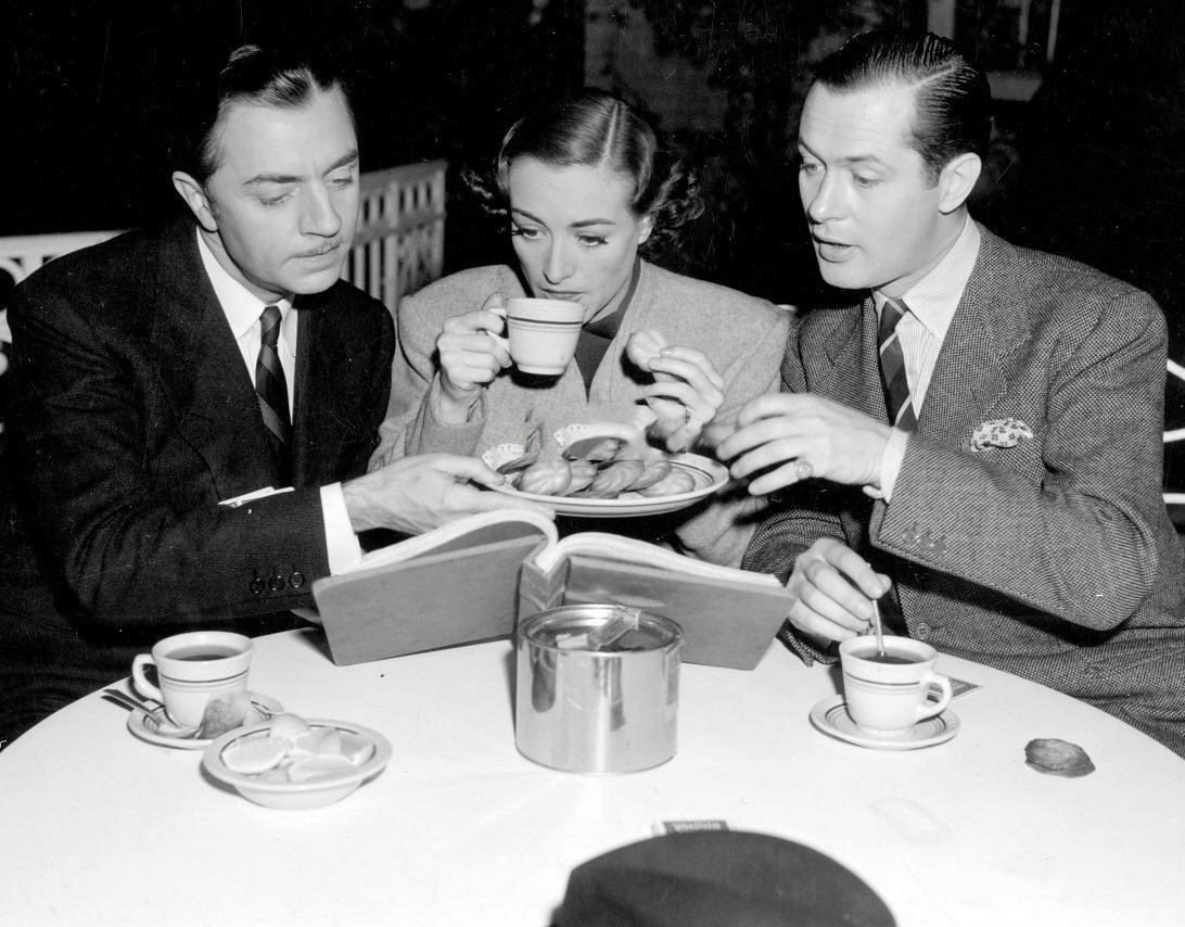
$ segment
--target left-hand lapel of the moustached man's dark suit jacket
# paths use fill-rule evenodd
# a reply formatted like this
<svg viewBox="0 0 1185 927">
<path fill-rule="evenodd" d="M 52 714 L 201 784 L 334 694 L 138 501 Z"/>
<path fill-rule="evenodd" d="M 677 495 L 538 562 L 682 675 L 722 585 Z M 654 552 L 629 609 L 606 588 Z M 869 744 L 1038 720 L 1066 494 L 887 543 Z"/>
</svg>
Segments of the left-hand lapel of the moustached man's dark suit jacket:
<svg viewBox="0 0 1185 927">
<path fill-rule="evenodd" d="M 213 478 L 219 498 L 276 485 L 255 388 L 201 267 L 188 220 L 166 235 L 156 277 L 152 340 L 178 429 Z"/>
</svg>

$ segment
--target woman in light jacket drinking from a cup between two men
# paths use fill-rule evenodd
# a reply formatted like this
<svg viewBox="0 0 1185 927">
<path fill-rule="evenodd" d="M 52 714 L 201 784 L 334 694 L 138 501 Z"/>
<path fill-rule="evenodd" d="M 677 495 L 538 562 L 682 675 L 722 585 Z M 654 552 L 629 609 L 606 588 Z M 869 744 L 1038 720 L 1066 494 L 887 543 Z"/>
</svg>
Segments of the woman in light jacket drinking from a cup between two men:
<svg viewBox="0 0 1185 927">
<path fill-rule="evenodd" d="M 551 434 L 574 422 L 628 421 L 681 450 L 706 422 L 777 391 L 786 313 L 639 256 L 702 206 L 691 175 L 626 103 L 585 91 L 520 120 L 491 187 L 518 266 L 453 274 L 399 305 L 374 465 L 434 450 L 481 454 L 521 440 L 526 422 Z M 492 337 L 504 325 L 493 309 L 521 295 L 584 307 L 575 363 L 559 377 L 514 370 Z M 735 565 L 762 505 L 725 491 L 630 530 Z"/>
</svg>

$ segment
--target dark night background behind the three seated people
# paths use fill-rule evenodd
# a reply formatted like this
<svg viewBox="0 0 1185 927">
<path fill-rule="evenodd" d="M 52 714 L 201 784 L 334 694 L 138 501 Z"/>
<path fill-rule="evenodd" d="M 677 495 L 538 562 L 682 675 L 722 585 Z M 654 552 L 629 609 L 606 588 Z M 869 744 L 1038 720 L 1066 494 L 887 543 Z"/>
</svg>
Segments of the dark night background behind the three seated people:
<svg viewBox="0 0 1185 927">
<path fill-rule="evenodd" d="M 501 237 L 456 168 L 487 159 L 520 108 L 583 83 L 647 109 L 702 168 L 709 212 L 677 269 L 779 302 L 825 298 L 787 161 L 813 59 L 866 26 L 925 25 L 924 0 L 25 0 L 0 32 L 0 235 L 128 228 L 175 209 L 166 129 L 188 88 L 243 41 L 332 44 L 353 65 L 364 168 L 449 159 L 447 270 L 499 256 Z M 1016 47 L 1003 0 L 959 0 L 956 39 L 985 66 L 1030 66 L 1027 103 L 998 106 L 978 218 L 1151 292 L 1185 358 L 1181 269 L 1185 4 L 1062 0 L 1057 56 Z M 1049 0 L 1035 0 L 1039 27 Z M 698 68 L 719 113 L 664 113 L 678 89 L 633 83 L 585 45 L 643 26 L 656 62 Z M 587 72 L 591 71 L 591 72 Z M 672 69 L 673 72 L 673 69 Z M 2 282 L 2 281 L 0 281 Z M 2 300 L 2 293 L 0 293 Z"/>
</svg>

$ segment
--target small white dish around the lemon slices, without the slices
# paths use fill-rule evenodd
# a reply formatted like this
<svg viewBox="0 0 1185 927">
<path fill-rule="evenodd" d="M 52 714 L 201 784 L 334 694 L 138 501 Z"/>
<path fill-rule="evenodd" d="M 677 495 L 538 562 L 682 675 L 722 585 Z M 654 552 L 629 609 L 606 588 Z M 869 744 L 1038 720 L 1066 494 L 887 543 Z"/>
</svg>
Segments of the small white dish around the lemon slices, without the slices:
<svg viewBox="0 0 1185 927">
<path fill-rule="evenodd" d="M 367 750 L 369 756 L 354 766 L 344 769 L 335 769 L 324 773 L 306 781 L 269 781 L 260 775 L 236 773 L 223 761 L 223 754 L 228 749 L 237 749 L 243 742 L 252 740 L 267 740 L 270 734 L 271 722 L 264 721 L 251 724 L 246 728 L 231 730 L 218 737 L 206 747 L 201 756 L 203 768 L 219 782 L 225 782 L 238 792 L 243 798 L 263 805 L 269 808 L 282 810 L 306 810 L 319 808 L 340 801 L 358 786 L 369 779 L 374 778 L 391 760 L 391 742 L 377 730 L 364 728 L 361 724 L 352 724 L 346 721 L 329 721 L 327 718 L 308 718 L 307 724 L 312 729 L 337 728 L 338 730 L 353 734 L 369 741 L 372 750 Z"/>
</svg>

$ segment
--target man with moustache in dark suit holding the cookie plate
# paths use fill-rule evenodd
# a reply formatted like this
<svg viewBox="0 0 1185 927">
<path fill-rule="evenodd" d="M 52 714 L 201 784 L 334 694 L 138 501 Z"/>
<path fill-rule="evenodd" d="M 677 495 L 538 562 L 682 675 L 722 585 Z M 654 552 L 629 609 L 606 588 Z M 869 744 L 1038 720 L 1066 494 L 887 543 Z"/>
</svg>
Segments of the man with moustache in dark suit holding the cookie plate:
<svg viewBox="0 0 1185 927">
<path fill-rule="evenodd" d="M 245 47 L 213 90 L 173 174 L 185 218 L 13 296 L 0 742 L 181 626 L 289 626 L 358 532 L 508 501 L 467 485 L 501 481 L 476 460 L 366 473 L 395 334 L 339 280 L 359 198 L 341 82 Z"/>
</svg>

